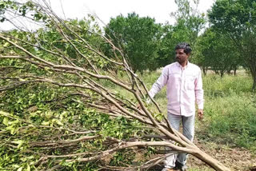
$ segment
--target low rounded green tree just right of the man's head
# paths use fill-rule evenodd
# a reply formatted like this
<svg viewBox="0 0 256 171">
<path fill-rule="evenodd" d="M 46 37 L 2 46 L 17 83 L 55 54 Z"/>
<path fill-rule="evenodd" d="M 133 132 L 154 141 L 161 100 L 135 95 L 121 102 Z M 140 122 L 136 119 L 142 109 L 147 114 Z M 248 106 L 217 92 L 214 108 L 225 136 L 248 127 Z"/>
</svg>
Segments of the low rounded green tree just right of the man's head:
<svg viewBox="0 0 256 171">
<path fill-rule="evenodd" d="M 202 67 L 204 74 L 210 68 L 222 77 L 230 70 L 234 70 L 235 74 L 238 66 L 242 66 L 240 54 L 234 42 L 212 28 L 207 29 L 198 38 L 194 54 L 194 62 Z"/>
</svg>

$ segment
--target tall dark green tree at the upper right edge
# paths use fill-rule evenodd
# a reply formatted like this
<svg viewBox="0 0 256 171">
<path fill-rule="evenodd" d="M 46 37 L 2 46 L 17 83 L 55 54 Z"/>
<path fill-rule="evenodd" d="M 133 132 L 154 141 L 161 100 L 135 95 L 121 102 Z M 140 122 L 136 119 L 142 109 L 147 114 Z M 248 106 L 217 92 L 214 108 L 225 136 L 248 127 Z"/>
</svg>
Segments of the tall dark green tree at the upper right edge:
<svg viewBox="0 0 256 171">
<path fill-rule="evenodd" d="M 240 51 L 256 86 L 256 2 L 254 0 L 217 0 L 209 13 L 210 23 L 230 38 Z"/>
</svg>

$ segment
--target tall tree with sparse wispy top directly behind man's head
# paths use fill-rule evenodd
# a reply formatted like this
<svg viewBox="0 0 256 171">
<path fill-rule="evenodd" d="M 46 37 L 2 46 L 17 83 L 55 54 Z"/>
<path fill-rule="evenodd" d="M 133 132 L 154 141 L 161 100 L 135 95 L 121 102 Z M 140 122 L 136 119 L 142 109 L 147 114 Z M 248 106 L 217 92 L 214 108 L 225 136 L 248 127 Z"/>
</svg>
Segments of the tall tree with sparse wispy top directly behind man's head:
<svg viewBox="0 0 256 171">
<path fill-rule="evenodd" d="M 176 20 L 174 26 L 163 26 L 161 49 L 158 52 L 161 66 L 175 61 L 174 47 L 179 42 L 189 42 L 194 47 L 198 34 L 206 23 L 204 14 L 199 14 L 197 10 L 199 1 L 194 1 L 195 8 L 190 5 L 189 0 L 175 0 L 175 3 L 178 10 L 170 15 Z"/>
</svg>

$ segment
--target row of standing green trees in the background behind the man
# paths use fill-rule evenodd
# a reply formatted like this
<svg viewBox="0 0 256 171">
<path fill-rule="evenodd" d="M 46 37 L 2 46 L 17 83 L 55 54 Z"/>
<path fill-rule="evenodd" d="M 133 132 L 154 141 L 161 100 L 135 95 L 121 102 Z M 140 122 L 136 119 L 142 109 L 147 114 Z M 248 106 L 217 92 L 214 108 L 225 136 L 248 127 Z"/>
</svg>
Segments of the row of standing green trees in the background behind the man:
<svg viewBox="0 0 256 171">
<path fill-rule="evenodd" d="M 236 74 L 243 66 L 254 78 L 254 89 L 256 2 L 217 1 L 207 16 L 199 14 L 188 0 L 175 2 L 178 12 L 171 14 L 176 19 L 174 25 L 161 25 L 154 18 L 140 18 L 133 13 L 111 18 L 106 26 L 107 37 L 124 50 L 133 70 L 143 72 L 166 66 L 174 62 L 174 46 L 189 42 L 194 49 L 191 60 L 205 74 L 209 69 L 221 76 L 231 70 Z"/>
</svg>

